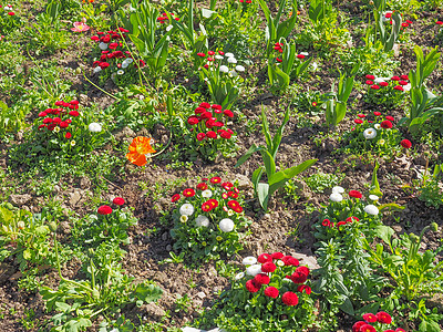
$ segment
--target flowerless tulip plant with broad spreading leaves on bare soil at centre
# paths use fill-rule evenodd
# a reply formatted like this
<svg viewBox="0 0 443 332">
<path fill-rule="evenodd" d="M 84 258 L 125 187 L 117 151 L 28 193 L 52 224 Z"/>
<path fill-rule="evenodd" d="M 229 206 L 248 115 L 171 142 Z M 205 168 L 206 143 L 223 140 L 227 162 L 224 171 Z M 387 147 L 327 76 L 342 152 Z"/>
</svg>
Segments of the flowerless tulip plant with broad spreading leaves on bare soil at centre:
<svg viewBox="0 0 443 332">
<path fill-rule="evenodd" d="M 285 118 L 280 127 L 278 128 L 277 134 L 272 138 L 270 136 L 269 125 L 266 118 L 265 110 L 261 108 L 261 122 L 262 122 L 261 125 L 262 125 L 262 133 L 266 138 L 266 146 L 256 146 L 255 144 L 253 144 L 253 146 L 245 153 L 245 155 L 243 155 L 238 159 L 236 164 L 236 167 L 238 167 L 243 163 L 245 163 L 254 153 L 260 152 L 265 165 L 254 170 L 251 180 L 254 184 L 256 195 L 258 197 L 258 201 L 260 203 L 260 206 L 265 211 L 268 210 L 268 203 L 272 197 L 274 193 L 276 193 L 279 188 L 284 187 L 289 179 L 302 173 L 307 168 L 311 167 L 317 162 L 317 159 L 310 159 L 301 163 L 300 165 L 296 165 L 290 168 L 276 172 L 275 159 L 277 156 L 278 147 L 280 146 L 281 143 L 285 125 L 288 123 L 288 121 L 289 121 L 289 108 L 286 110 Z M 267 184 L 260 183 L 261 176 L 264 175 L 265 170 L 268 178 Z"/>
</svg>

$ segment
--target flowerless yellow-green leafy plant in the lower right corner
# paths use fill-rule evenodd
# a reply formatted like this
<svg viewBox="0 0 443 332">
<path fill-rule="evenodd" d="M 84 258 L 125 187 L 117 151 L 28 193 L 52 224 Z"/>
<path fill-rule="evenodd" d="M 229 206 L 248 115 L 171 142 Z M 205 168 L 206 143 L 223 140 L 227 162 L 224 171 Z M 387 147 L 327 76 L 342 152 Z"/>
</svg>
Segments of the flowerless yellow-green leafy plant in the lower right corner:
<svg viewBox="0 0 443 332">
<path fill-rule="evenodd" d="M 425 250 L 419 252 L 423 235 L 426 230 L 437 229 L 437 225 L 426 226 L 420 237 L 414 234 L 403 234 L 400 238 L 393 237 L 395 231 L 388 226 L 378 226 L 377 236 L 388 246 L 388 250 L 382 243 L 378 243 L 373 249 L 364 240 L 364 248 L 370 255 L 370 260 L 380 272 L 391 277 L 390 287 L 393 289 L 390 297 L 385 300 L 385 307 L 390 310 L 396 309 L 403 312 L 411 310 L 411 304 L 416 309 L 412 310 L 410 317 L 419 318 L 422 323 L 420 331 L 440 331 L 439 320 L 441 314 L 429 314 L 425 308 L 425 299 L 443 290 L 443 262 L 439 262 L 436 257 L 443 248 Z M 429 326 L 424 329 L 424 326 Z"/>
</svg>

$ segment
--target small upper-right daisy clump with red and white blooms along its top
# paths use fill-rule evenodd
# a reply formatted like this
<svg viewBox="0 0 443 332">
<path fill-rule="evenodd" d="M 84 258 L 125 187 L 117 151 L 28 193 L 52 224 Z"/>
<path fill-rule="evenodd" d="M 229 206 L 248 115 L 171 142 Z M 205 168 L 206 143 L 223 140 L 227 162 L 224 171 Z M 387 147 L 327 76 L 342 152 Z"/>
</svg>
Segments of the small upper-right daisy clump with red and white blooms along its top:
<svg viewBox="0 0 443 332">
<path fill-rule="evenodd" d="M 385 107 L 401 105 L 404 100 L 404 92 L 411 90 L 408 75 L 392 77 L 377 77 L 372 74 L 364 76 L 364 84 L 368 85 L 365 102 Z"/>
</svg>

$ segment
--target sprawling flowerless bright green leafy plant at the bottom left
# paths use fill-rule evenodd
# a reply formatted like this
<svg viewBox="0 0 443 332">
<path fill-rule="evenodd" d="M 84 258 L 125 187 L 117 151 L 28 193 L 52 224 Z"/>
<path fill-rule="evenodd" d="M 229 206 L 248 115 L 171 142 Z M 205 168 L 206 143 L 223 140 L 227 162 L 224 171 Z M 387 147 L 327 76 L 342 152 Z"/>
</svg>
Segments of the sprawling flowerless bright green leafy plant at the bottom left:
<svg viewBox="0 0 443 332">
<path fill-rule="evenodd" d="M 60 274 L 56 290 L 42 287 L 40 294 L 48 311 L 59 312 L 51 318 L 54 324 L 51 331 L 85 331 L 99 314 L 115 317 L 130 303 L 141 307 L 162 297 L 161 288 L 150 282 L 134 283 L 133 277 L 122 272 L 121 266 L 113 261 L 97 269 L 91 259 L 87 280 L 74 281 Z"/>
</svg>

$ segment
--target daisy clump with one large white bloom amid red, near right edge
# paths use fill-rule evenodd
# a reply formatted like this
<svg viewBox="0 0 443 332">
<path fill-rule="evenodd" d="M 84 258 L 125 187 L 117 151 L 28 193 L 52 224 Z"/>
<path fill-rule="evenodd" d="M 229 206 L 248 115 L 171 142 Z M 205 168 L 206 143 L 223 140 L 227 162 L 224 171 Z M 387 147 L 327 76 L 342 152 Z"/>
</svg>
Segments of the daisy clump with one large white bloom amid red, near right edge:
<svg viewBox="0 0 443 332">
<path fill-rule="evenodd" d="M 412 143 L 401 141 L 401 133 L 395 127 L 395 118 L 373 112 L 371 115 L 358 114 L 351 132 L 344 136 L 348 147 L 356 151 L 371 151 L 380 156 L 392 156 L 402 147 L 410 148 Z"/>
</svg>

